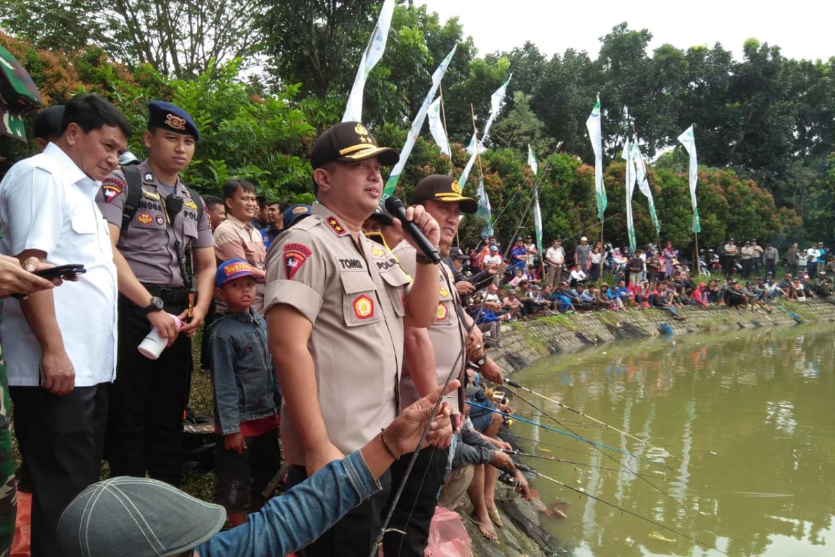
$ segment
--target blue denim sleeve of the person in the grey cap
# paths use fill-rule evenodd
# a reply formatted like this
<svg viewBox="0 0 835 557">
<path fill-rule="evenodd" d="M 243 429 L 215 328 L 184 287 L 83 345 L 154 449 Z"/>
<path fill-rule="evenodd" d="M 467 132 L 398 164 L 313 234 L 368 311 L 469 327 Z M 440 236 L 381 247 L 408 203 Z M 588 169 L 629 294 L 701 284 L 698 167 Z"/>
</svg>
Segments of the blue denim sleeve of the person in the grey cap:
<svg viewBox="0 0 835 557">
<path fill-rule="evenodd" d="M 286 555 L 317 539 L 381 485 L 356 451 L 270 499 L 245 524 L 216 534 L 195 548 L 199 557 Z"/>
</svg>

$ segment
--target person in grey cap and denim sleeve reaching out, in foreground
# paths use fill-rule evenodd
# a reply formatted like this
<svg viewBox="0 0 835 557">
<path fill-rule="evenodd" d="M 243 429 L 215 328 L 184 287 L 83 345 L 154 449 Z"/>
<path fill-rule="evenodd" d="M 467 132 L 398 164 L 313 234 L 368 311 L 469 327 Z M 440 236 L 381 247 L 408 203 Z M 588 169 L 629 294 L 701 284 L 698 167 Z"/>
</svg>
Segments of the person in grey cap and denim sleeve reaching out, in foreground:
<svg viewBox="0 0 835 557">
<path fill-rule="evenodd" d="M 458 389 L 449 382 L 444 394 Z M 84 489 L 58 520 L 62 557 L 170 555 L 172 557 L 264 557 L 286 555 L 311 543 L 364 499 L 382 489 L 377 480 L 402 454 L 438 440 L 450 424 L 452 408 L 442 389 L 423 397 L 371 441 L 334 460 L 301 484 L 270 500 L 244 524 L 220 532 L 226 512 L 169 484 L 116 477 Z M 220 533 L 219 533 L 220 532 Z"/>
</svg>

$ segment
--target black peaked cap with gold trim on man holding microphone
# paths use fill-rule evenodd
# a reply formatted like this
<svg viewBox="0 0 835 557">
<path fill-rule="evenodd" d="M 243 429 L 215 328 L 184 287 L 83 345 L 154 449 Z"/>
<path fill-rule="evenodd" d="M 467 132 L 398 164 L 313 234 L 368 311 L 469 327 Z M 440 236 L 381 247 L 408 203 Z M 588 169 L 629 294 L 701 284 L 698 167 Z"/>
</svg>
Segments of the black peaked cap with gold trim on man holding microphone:
<svg viewBox="0 0 835 557">
<path fill-rule="evenodd" d="M 375 155 L 384 166 L 397 165 L 400 160 L 394 149 L 378 147 L 377 140 L 360 122 L 342 122 L 316 138 L 311 151 L 311 165 L 317 169 L 334 160 L 366 160 Z"/>
</svg>

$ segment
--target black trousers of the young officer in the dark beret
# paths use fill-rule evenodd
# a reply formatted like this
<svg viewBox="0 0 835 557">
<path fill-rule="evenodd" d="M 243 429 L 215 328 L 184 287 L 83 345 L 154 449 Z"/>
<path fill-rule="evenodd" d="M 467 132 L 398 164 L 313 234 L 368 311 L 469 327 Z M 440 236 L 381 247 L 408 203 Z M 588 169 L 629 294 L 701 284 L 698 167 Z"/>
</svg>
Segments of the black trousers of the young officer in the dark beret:
<svg viewBox="0 0 835 557">
<path fill-rule="evenodd" d="M 165 300 L 179 315 L 187 301 Z M 110 386 L 105 458 L 111 476 L 151 478 L 180 485 L 183 412 L 191 381 L 191 342 L 178 335 L 157 360 L 137 351 L 151 330 L 139 307 L 119 296 L 119 356 Z"/>
</svg>

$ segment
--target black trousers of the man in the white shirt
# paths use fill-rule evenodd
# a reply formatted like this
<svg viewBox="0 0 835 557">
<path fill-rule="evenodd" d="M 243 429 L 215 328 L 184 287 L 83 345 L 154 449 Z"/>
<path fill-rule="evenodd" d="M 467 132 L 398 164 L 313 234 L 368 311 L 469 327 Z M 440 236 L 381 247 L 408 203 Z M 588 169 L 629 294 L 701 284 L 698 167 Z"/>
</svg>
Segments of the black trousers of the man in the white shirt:
<svg viewBox="0 0 835 557">
<path fill-rule="evenodd" d="M 55 529 L 73 498 L 99 481 L 107 385 L 58 397 L 42 387 L 9 387 L 14 431 L 32 487 L 32 555 L 58 555 Z"/>
</svg>

